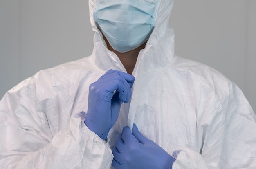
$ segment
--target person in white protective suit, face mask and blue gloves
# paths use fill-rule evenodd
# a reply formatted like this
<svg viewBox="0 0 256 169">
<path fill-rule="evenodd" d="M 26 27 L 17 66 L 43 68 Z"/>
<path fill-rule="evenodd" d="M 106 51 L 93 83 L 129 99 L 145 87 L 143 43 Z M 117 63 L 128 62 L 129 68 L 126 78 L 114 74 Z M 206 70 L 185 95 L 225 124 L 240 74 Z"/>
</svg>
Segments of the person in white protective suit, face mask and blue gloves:
<svg viewBox="0 0 256 169">
<path fill-rule="evenodd" d="M 0 166 L 256 168 L 256 116 L 217 70 L 174 54 L 173 0 L 89 0 L 91 56 L 0 101 Z"/>
</svg>

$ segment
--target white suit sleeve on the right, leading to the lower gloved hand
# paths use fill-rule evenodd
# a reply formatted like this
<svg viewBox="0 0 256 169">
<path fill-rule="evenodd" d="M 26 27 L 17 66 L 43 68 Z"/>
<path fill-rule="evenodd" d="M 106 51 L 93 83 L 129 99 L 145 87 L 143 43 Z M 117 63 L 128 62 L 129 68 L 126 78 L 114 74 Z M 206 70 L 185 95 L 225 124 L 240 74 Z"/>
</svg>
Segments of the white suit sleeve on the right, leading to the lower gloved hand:
<svg viewBox="0 0 256 169">
<path fill-rule="evenodd" d="M 256 168 L 256 116 L 234 83 L 225 86 L 227 90 L 204 88 L 210 92 L 201 95 L 198 105 L 200 152 L 176 149 L 173 169 Z"/>
</svg>

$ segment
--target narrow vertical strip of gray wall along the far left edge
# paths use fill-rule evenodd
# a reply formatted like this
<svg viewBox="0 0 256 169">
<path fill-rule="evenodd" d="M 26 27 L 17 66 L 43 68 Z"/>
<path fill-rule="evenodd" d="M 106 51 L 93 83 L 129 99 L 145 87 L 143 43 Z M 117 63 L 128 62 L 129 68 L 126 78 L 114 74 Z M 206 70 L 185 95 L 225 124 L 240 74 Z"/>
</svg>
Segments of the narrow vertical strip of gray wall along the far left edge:
<svg viewBox="0 0 256 169">
<path fill-rule="evenodd" d="M 18 0 L 0 0 L 0 98 L 19 82 Z"/>
</svg>

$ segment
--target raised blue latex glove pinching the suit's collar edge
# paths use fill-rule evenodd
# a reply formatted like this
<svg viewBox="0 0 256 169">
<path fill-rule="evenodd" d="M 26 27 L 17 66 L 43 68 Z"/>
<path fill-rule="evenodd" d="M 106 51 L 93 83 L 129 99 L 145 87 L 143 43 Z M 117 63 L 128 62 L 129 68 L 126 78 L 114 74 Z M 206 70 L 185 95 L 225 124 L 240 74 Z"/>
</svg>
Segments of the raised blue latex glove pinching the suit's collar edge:
<svg viewBox="0 0 256 169">
<path fill-rule="evenodd" d="M 85 125 L 103 140 L 116 122 L 121 104 L 129 102 L 134 80 L 128 73 L 108 70 L 90 85 Z"/>
</svg>

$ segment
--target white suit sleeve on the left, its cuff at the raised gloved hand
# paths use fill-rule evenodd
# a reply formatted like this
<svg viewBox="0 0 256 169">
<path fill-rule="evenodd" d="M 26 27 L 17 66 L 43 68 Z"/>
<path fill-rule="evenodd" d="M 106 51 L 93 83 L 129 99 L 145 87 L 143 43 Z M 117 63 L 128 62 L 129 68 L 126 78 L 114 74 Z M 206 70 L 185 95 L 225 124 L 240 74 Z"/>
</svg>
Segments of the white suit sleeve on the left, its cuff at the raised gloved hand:
<svg viewBox="0 0 256 169">
<path fill-rule="evenodd" d="M 69 110 L 65 105 L 69 104 L 65 103 L 68 97 L 56 92 L 63 88 L 47 85 L 52 82 L 42 76 L 48 75 L 40 72 L 23 81 L 0 101 L 0 166 L 4 169 L 110 168 L 113 156 L 108 143 L 85 126 L 83 116 L 68 117 L 69 113 L 63 113 Z M 55 89 L 42 89 L 42 83 Z M 63 119 L 67 124 L 58 128 Z"/>
</svg>

